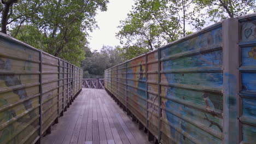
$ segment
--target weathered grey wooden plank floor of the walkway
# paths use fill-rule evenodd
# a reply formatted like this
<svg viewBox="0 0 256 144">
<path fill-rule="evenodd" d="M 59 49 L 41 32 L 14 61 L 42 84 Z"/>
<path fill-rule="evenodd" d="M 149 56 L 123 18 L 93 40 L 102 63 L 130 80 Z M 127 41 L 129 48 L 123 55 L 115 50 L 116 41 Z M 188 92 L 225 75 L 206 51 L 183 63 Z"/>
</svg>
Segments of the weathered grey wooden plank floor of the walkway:
<svg viewBox="0 0 256 144">
<path fill-rule="evenodd" d="M 49 143 L 150 143 L 115 101 L 103 89 L 84 88 L 51 134 L 42 139 Z"/>
</svg>

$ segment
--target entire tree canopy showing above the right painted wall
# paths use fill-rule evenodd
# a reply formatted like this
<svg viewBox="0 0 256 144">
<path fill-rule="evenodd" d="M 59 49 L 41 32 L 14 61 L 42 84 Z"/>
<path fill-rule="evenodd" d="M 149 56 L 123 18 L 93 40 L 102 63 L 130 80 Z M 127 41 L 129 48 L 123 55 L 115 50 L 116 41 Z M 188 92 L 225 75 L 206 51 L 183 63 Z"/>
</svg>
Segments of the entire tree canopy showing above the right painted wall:
<svg viewBox="0 0 256 144">
<path fill-rule="evenodd" d="M 255 0 L 135 0 L 117 38 L 127 58 L 152 51 L 206 25 L 255 13 Z M 135 52 L 136 51 L 136 52 Z"/>
</svg>

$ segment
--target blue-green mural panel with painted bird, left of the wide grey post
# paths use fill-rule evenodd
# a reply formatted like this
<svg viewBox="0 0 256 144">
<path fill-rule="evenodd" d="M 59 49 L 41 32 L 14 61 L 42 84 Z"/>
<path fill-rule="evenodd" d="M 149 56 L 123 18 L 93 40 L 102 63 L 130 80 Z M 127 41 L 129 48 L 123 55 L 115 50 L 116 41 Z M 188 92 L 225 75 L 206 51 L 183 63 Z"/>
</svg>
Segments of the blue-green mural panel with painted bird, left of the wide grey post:
<svg viewBox="0 0 256 144">
<path fill-rule="evenodd" d="M 222 143 L 221 44 L 218 27 L 161 50 L 165 143 Z"/>
</svg>

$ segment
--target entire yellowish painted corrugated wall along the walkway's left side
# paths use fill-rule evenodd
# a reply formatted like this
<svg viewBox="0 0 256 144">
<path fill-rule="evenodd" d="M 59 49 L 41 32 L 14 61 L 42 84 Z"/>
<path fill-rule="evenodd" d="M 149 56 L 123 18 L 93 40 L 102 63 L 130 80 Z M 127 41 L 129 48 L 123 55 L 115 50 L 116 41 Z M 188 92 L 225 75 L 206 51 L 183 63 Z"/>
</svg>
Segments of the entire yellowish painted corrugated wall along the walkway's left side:
<svg viewBox="0 0 256 144">
<path fill-rule="evenodd" d="M 59 117 L 65 104 L 65 94 L 62 93 L 65 92 L 65 63 L 59 58 L 0 33 L 1 144 L 35 143 Z M 73 71 L 75 68 L 77 67 L 73 65 Z M 80 83 L 76 92 L 82 88 L 83 73 L 79 68 L 77 70 Z M 75 75 L 72 79 L 75 79 Z M 70 84 L 74 89 L 73 83 Z"/>
</svg>

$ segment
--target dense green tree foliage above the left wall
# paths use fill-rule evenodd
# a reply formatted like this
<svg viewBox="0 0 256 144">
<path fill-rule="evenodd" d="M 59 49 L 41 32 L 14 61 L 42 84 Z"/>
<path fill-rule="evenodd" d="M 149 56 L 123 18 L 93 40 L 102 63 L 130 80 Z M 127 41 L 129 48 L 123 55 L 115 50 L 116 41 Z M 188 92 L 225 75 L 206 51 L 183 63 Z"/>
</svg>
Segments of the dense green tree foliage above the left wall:
<svg viewBox="0 0 256 144">
<path fill-rule="evenodd" d="M 88 49 L 88 31 L 97 27 L 97 10 L 106 11 L 107 3 L 108 0 L 18 1 L 10 6 L 8 33 L 80 66 Z"/>
</svg>

